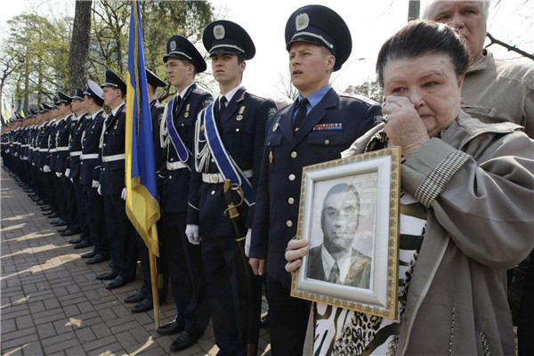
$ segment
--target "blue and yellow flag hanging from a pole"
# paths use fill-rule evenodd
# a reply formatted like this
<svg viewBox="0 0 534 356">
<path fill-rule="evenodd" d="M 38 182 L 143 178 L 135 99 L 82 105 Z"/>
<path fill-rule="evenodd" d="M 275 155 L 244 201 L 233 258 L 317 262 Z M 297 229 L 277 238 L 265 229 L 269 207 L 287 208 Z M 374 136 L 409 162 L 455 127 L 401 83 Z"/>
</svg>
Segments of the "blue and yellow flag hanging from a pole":
<svg viewBox="0 0 534 356">
<path fill-rule="evenodd" d="M 132 1 L 126 85 L 126 214 L 150 252 L 159 255 L 158 185 L 138 0 Z"/>
</svg>

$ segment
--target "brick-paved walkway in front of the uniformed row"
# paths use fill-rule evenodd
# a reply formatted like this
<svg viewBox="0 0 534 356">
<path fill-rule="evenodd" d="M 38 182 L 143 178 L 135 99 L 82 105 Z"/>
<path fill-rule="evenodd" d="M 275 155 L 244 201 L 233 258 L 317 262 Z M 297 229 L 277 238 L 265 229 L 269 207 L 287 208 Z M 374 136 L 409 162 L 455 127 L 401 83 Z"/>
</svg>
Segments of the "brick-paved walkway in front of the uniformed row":
<svg viewBox="0 0 534 356">
<path fill-rule="evenodd" d="M 108 263 L 86 264 L 19 185 L 0 169 L 1 353 L 11 355 L 163 355 L 174 336 L 158 336 L 154 312 L 133 314 L 123 302 L 142 286 L 137 279 L 108 290 L 95 274 Z M 167 300 L 172 299 L 169 291 Z M 161 324 L 174 320 L 172 303 L 161 305 Z M 261 331 L 258 354 L 270 354 Z M 213 329 L 175 355 L 214 355 Z"/>
</svg>

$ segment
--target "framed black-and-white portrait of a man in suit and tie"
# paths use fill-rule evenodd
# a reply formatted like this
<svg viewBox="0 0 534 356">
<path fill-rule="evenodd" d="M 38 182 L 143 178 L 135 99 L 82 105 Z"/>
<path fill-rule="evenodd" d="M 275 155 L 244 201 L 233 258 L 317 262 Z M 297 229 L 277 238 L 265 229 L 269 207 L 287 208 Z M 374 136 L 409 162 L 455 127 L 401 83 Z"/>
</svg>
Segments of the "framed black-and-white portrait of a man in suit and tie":
<svg viewBox="0 0 534 356">
<path fill-rule="evenodd" d="M 303 168 L 291 295 L 397 317 L 400 177 L 399 147 Z"/>
</svg>

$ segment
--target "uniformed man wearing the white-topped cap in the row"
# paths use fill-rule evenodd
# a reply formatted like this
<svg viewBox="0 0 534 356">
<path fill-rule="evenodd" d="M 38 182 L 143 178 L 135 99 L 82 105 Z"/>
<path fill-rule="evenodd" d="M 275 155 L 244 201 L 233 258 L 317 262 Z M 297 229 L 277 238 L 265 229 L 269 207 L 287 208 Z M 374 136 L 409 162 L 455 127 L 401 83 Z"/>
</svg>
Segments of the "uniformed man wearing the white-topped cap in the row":
<svg viewBox="0 0 534 356">
<path fill-rule="evenodd" d="M 91 115 L 82 134 L 82 154 L 80 155 L 80 184 L 83 186 L 87 205 L 85 206 L 86 223 L 89 228 L 93 251 L 81 255 L 88 258 L 85 263 L 102 263 L 109 260 L 108 235 L 104 220 L 104 200 L 97 192 L 98 181 L 93 180 L 95 166 L 99 157 L 99 145 L 104 121 L 108 115 L 102 109 L 104 100 L 102 89 L 93 80 L 87 81 L 85 109 Z M 99 168 L 100 169 L 100 168 Z"/>
</svg>

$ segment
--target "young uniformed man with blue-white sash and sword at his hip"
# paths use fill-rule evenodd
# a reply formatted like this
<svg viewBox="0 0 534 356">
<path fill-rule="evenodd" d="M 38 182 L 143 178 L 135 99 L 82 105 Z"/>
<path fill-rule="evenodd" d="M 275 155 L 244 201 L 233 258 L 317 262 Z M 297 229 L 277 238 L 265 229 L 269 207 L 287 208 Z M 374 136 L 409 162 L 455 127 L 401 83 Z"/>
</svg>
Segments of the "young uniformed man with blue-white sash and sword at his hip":
<svg viewBox="0 0 534 356">
<path fill-rule="evenodd" d="M 247 229 L 255 204 L 265 123 L 276 112 L 276 104 L 248 93 L 241 85 L 246 61 L 255 56 L 255 44 L 244 28 L 228 20 L 214 21 L 204 30 L 203 43 L 221 93 L 196 125 L 198 174 L 191 177 L 186 234 L 193 244 L 202 238 L 206 290 L 219 354 L 241 355 L 248 342 L 247 266 L 232 222 L 224 214 L 228 204 L 223 182 L 231 179 L 244 190 L 239 223 Z"/>
</svg>

